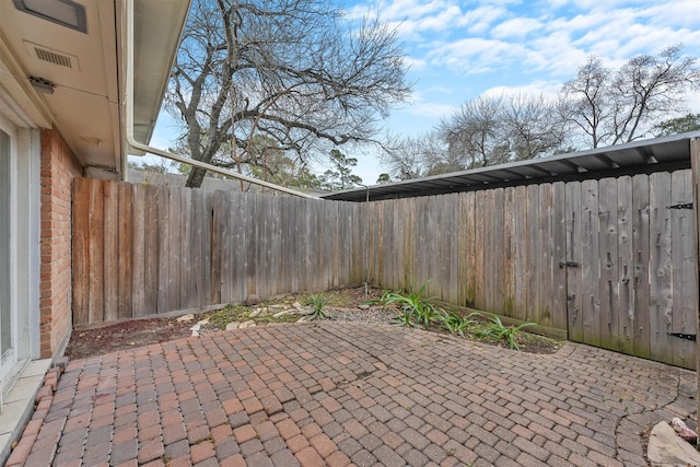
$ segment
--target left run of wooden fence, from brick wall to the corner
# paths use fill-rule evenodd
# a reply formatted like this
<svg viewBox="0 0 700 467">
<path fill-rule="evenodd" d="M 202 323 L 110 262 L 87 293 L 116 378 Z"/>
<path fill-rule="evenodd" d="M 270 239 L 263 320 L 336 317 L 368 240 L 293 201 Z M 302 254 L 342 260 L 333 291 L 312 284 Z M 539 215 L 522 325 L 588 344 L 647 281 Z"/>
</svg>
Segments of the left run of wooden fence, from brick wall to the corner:
<svg viewBox="0 0 700 467">
<path fill-rule="evenodd" d="M 361 283 L 360 209 L 75 179 L 73 323 Z"/>
</svg>

